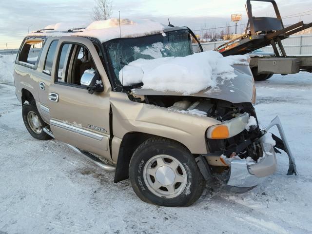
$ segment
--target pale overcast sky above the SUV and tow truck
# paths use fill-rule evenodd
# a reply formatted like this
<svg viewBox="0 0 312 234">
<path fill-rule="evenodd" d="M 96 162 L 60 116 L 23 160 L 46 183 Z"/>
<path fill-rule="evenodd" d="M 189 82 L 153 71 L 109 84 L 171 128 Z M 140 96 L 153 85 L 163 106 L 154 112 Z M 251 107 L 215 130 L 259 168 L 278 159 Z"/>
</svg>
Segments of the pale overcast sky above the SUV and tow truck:
<svg viewBox="0 0 312 234">
<path fill-rule="evenodd" d="M 312 0 L 276 0 L 282 17 L 296 13 L 306 15 L 288 18 L 284 24 L 292 24 L 300 19 L 312 22 Z M 189 26 L 193 30 L 234 25 L 231 14 L 243 14 L 246 0 L 113 0 L 113 17 L 153 19 L 177 26 Z M 270 3 L 252 2 L 255 16 L 273 16 Z M 91 22 L 94 0 L 0 0 L 0 49 L 18 48 L 21 40 L 30 31 L 44 28 L 57 22 Z M 290 16 L 290 17 L 292 17 Z M 232 28 L 234 29 L 234 28 Z M 238 26 L 240 31 L 243 26 Z M 195 32 L 198 34 L 198 31 Z"/>
</svg>

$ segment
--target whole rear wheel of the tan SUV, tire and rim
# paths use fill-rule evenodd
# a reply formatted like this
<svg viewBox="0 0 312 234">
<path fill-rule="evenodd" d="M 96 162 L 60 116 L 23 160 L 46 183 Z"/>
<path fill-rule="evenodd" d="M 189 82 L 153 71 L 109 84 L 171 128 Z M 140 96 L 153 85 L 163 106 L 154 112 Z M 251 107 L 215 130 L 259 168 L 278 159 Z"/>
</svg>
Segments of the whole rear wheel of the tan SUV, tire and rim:
<svg viewBox="0 0 312 234">
<path fill-rule="evenodd" d="M 27 131 L 30 135 L 39 140 L 47 140 L 51 137 L 43 132 L 47 124 L 42 120 L 36 107 L 36 101 L 25 103 L 22 107 L 22 117 Z"/>
</svg>

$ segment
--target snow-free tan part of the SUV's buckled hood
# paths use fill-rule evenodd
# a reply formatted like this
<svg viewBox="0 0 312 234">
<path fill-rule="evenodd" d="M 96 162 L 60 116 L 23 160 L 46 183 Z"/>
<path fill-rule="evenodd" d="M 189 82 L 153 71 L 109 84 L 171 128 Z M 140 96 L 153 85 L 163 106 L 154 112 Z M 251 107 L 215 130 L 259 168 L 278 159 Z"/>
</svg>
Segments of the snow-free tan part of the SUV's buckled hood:
<svg viewBox="0 0 312 234">
<path fill-rule="evenodd" d="M 136 88 L 132 89 L 135 95 L 146 96 L 190 96 L 215 98 L 232 103 L 252 102 L 254 78 L 250 67 L 246 65 L 233 65 L 234 73 L 237 77 L 233 79 L 217 78 L 217 86 L 215 88 L 207 88 L 196 94 L 182 95 L 172 91 L 156 91 L 151 89 Z"/>
</svg>

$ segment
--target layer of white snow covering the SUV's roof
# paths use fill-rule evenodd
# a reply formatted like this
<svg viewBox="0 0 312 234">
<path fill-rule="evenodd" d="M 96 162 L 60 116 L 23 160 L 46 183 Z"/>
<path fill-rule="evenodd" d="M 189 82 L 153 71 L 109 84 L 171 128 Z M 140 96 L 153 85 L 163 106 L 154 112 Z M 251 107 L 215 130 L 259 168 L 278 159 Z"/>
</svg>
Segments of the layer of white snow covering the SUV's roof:
<svg viewBox="0 0 312 234">
<path fill-rule="evenodd" d="M 28 36 L 80 36 L 97 38 L 105 42 L 115 38 L 136 38 L 156 33 L 164 33 L 171 27 L 155 22 L 153 20 L 120 20 L 119 19 L 94 21 L 89 26 L 83 27 L 81 24 L 56 23 L 46 26 L 37 32 L 32 32 Z"/>
</svg>

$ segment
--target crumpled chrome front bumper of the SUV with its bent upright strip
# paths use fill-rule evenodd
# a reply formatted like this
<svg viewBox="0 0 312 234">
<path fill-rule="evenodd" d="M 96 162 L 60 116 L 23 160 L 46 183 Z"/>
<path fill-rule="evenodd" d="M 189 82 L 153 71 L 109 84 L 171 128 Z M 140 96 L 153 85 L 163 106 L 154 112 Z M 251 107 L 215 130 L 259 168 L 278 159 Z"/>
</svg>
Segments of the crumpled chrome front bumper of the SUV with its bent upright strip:
<svg viewBox="0 0 312 234">
<path fill-rule="evenodd" d="M 279 118 L 275 117 L 262 131 L 265 134 L 275 125 L 278 128 L 287 151 L 286 153 L 289 156 L 289 169 L 287 175 L 296 175 L 297 171 L 295 161 Z M 261 183 L 266 176 L 270 176 L 276 171 L 277 163 L 273 145 L 265 142 L 260 144 L 263 151 L 263 158 L 259 162 L 254 163 L 240 159 L 234 159 L 231 161 L 231 172 L 227 184 L 224 186 L 225 189 L 236 193 L 247 192 Z"/>
</svg>

